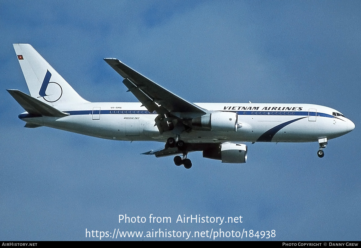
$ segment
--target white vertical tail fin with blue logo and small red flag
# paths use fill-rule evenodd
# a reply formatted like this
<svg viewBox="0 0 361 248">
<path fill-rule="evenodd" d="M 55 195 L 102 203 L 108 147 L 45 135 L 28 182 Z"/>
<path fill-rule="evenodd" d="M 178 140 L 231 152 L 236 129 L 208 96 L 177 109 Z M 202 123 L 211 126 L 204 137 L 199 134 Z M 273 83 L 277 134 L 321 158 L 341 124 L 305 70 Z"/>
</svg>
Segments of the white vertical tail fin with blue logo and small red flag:
<svg viewBox="0 0 361 248">
<path fill-rule="evenodd" d="M 51 106 L 88 102 L 30 44 L 13 46 L 32 97 Z"/>
</svg>

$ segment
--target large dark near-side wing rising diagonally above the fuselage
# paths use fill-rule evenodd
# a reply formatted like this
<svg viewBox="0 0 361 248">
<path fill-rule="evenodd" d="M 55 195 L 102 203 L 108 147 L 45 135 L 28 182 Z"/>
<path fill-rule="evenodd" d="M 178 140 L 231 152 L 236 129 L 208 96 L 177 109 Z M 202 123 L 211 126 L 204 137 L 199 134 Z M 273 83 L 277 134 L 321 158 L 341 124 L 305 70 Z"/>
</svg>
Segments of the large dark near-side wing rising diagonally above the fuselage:
<svg viewBox="0 0 361 248">
<path fill-rule="evenodd" d="M 207 110 L 171 93 L 118 59 L 104 60 L 124 78 L 123 84 L 127 86 L 128 91 L 150 112 L 171 114 L 181 119 L 193 119 L 208 113 Z"/>
</svg>

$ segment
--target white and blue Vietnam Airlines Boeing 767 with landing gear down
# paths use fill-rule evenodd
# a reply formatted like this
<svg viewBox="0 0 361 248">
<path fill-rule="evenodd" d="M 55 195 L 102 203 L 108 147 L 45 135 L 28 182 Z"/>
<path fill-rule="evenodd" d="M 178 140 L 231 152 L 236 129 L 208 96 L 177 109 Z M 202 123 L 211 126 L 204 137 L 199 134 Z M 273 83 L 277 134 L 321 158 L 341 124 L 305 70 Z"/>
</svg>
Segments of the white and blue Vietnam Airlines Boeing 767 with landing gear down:
<svg viewBox="0 0 361 248">
<path fill-rule="evenodd" d="M 223 163 L 245 163 L 242 142 L 318 142 L 318 157 L 328 140 L 351 132 L 355 124 L 341 112 L 315 104 L 191 103 L 136 72 L 118 59 L 105 58 L 140 103 L 89 102 L 30 44 L 13 44 L 30 95 L 7 90 L 24 108 L 26 128 L 41 126 L 109 140 L 160 141 L 142 154 L 175 155 L 187 169 L 192 151 Z M 182 156 L 182 157 L 181 157 Z"/>
</svg>

